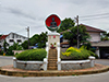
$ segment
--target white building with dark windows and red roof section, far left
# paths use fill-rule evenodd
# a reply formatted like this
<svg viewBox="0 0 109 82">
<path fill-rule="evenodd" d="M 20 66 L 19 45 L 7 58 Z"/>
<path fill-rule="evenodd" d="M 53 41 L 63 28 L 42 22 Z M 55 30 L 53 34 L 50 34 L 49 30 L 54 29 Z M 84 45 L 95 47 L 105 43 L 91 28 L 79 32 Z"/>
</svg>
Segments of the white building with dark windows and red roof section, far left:
<svg viewBox="0 0 109 82">
<path fill-rule="evenodd" d="M 9 44 L 9 46 L 12 46 L 14 43 L 19 43 L 19 45 L 21 45 L 22 43 L 27 40 L 27 37 L 11 32 L 9 35 L 2 35 L 0 37 L 1 47 L 3 47 L 4 40 Z"/>
</svg>

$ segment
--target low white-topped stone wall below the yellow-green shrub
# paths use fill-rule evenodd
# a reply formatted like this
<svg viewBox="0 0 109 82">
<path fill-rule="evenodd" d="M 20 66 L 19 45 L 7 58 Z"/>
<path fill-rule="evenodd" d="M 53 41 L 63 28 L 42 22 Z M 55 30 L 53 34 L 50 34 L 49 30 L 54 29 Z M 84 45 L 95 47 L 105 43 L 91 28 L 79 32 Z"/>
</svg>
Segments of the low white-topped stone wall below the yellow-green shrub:
<svg viewBox="0 0 109 82">
<path fill-rule="evenodd" d="M 90 60 L 61 61 L 61 70 L 78 70 L 78 69 L 86 69 L 86 68 L 90 68 L 90 67 L 92 67 Z"/>
</svg>

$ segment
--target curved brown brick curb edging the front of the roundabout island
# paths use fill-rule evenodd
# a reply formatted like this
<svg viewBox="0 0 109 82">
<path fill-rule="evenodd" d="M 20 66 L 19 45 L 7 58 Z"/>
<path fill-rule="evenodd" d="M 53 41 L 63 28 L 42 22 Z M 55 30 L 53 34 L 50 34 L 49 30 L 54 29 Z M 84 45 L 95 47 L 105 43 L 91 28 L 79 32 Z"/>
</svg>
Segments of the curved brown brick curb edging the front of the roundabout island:
<svg viewBox="0 0 109 82">
<path fill-rule="evenodd" d="M 102 65 L 100 65 L 102 66 Z M 10 77 L 63 77 L 63 75 L 82 75 L 82 74 L 94 74 L 94 73 L 101 73 L 109 71 L 108 66 L 102 66 L 99 69 L 93 69 L 93 70 L 62 70 L 62 71 L 15 71 L 15 70 L 5 70 L 2 67 L 0 67 L 0 74 L 3 75 L 10 75 Z"/>
</svg>

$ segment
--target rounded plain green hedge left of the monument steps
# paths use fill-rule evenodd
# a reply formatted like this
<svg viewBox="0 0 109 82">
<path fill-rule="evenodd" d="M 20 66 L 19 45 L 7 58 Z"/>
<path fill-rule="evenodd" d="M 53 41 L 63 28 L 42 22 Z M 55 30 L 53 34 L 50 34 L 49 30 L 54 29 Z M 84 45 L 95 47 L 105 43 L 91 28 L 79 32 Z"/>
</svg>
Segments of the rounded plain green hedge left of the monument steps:
<svg viewBox="0 0 109 82">
<path fill-rule="evenodd" d="M 19 55 L 16 55 L 17 60 L 44 60 L 46 58 L 47 51 L 45 49 L 31 49 L 31 50 L 25 50 Z"/>
</svg>

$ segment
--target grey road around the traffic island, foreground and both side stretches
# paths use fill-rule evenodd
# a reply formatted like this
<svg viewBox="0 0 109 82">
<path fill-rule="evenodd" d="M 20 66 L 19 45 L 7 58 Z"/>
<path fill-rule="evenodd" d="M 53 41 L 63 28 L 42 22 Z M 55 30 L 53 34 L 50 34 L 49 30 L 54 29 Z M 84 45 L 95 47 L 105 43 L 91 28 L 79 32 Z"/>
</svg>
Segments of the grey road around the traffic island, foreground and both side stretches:
<svg viewBox="0 0 109 82">
<path fill-rule="evenodd" d="M 97 59 L 96 62 L 109 66 L 108 59 Z M 12 57 L 0 57 L 0 67 L 7 65 L 12 65 Z M 109 72 L 70 77 L 17 78 L 0 75 L 0 82 L 109 82 Z"/>
</svg>

